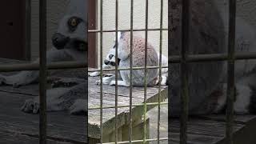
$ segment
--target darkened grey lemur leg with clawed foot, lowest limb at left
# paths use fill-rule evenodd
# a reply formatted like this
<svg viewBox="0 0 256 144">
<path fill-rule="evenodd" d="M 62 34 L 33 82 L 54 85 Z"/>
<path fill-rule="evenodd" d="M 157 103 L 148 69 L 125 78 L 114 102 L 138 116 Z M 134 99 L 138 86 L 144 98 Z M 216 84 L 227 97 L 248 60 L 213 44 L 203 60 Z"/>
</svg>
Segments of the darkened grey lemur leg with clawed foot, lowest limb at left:
<svg viewBox="0 0 256 144">
<path fill-rule="evenodd" d="M 77 99 L 86 99 L 86 86 L 87 82 L 83 82 L 70 88 L 55 88 L 47 90 L 46 110 L 59 111 L 69 110 L 71 108 L 72 113 L 76 113 L 78 110 L 78 108 L 76 108 Z M 87 103 L 85 103 L 85 107 L 86 104 Z M 39 97 L 27 99 L 26 102 L 24 102 L 21 110 L 26 113 L 38 114 Z"/>
</svg>

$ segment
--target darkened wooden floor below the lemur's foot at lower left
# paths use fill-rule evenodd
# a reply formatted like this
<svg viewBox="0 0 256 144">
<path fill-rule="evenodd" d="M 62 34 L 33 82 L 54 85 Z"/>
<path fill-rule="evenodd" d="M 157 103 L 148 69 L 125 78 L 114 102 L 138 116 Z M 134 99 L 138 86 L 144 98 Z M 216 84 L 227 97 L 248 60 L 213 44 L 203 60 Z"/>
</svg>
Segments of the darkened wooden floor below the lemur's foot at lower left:
<svg viewBox="0 0 256 144">
<path fill-rule="evenodd" d="M 38 86 L 23 86 L 18 89 L 1 86 L 0 89 L 0 143 L 21 143 L 21 141 L 37 143 L 39 115 L 23 113 L 20 107 L 27 98 L 33 98 L 38 94 Z M 47 122 L 47 133 L 52 141 L 85 142 L 87 140 L 83 116 L 70 115 L 64 111 L 52 112 L 47 113 Z"/>
</svg>

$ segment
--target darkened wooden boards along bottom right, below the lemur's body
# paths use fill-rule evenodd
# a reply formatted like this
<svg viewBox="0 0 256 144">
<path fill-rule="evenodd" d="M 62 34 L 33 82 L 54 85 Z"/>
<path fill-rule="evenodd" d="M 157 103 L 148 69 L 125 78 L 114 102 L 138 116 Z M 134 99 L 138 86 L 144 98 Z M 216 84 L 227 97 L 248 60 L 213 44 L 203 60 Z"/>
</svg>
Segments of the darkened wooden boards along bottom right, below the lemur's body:
<svg viewBox="0 0 256 144">
<path fill-rule="evenodd" d="M 189 118 L 188 143 L 190 144 L 225 144 L 225 115 L 209 115 L 198 118 Z M 236 116 L 234 124 L 234 144 L 256 143 L 255 128 L 256 116 Z M 172 143 L 179 143 L 179 123 L 174 119 L 170 123 L 170 137 Z"/>
</svg>

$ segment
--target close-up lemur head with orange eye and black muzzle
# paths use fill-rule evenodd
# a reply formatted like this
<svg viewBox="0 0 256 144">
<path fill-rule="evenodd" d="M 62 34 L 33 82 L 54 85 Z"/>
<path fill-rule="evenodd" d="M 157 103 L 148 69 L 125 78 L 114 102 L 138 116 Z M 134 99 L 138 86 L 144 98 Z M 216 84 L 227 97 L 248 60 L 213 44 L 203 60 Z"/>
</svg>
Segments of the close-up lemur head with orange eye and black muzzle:
<svg viewBox="0 0 256 144">
<path fill-rule="evenodd" d="M 66 15 L 60 20 L 52 43 L 58 50 L 87 50 L 87 0 L 72 0 Z"/>
</svg>

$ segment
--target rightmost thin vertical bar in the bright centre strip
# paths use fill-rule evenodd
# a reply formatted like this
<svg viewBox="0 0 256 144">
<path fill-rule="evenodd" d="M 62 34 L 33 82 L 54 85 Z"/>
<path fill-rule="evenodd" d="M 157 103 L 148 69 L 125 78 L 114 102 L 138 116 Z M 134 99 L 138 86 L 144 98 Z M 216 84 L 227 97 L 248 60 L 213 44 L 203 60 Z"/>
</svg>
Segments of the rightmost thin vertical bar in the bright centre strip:
<svg viewBox="0 0 256 144">
<path fill-rule="evenodd" d="M 161 98 L 161 82 L 162 82 L 162 7 L 163 0 L 160 4 L 160 45 L 159 45 L 159 79 L 158 79 L 158 144 L 160 143 L 160 98 Z"/>
</svg>

